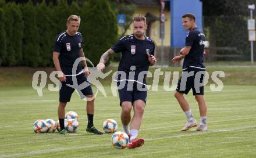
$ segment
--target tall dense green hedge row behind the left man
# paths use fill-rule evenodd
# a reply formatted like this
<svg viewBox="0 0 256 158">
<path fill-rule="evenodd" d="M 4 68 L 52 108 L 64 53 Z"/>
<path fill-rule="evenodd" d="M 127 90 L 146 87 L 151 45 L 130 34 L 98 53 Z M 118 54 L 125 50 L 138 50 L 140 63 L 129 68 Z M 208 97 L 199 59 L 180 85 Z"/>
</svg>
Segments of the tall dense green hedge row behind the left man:
<svg viewBox="0 0 256 158">
<path fill-rule="evenodd" d="M 52 46 L 56 35 L 66 30 L 69 15 L 81 17 L 83 50 L 95 66 L 118 34 L 116 15 L 108 0 L 91 0 L 84 5 L 69 5 L 66 0 L 57 5 L 0 0 L 0 66 L 52 66 Z"/>
</svg>

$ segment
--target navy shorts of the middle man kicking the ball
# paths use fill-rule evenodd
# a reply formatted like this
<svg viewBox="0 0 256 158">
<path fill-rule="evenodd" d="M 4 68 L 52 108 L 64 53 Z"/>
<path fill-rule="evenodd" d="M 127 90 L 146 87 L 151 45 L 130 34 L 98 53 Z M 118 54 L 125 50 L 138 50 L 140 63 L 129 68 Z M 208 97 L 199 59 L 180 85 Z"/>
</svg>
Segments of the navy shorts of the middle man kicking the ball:
<svg viewBox="0 0 256 158">
<path fill-rule="evenodd" d="M 143 100 L 143 102 L 147 102 L 147 90 L 145 90 L 145 85 L 139 85 L 141 88 L 143 88 L 144 90 L 141 91 L 140 89 L 137 88 L 137 82 L 132 83 L 131 81 L 121 81 L 121 82 L 126 82 L 125 83 L 125 87 L 123 87 L 122 89 L 118 89 L 118 94 L 119 94 L 119 99 L 120 99 L 120 106 L 122 106 L 122 102 L 131 102 L 133 104 L 134 101 L 136 100 Z M 119 87 L 120 83 L 118 82 L 117 85 Z M 128 82 L 130 82 L 131 84 L 133 84 L 133 86 L 131 86 L 132 88 L 127 88 L 128 86 Z M 130 84 L 129 83 L 129 84 Z"/>
</svg>

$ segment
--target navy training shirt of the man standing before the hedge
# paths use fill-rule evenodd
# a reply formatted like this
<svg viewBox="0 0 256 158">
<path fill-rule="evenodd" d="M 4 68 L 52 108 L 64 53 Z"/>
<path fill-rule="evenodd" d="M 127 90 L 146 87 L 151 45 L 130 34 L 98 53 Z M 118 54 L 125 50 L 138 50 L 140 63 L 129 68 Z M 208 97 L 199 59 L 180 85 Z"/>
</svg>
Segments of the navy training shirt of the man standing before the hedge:
<svg viewBox="0 0 256 158">
<path fill-rule="evenodd" d="M 57 35 L 54 52 L 59 52 L 59 63 L 61 64 L 61 70 L 65 75 L 71 75 L 72 67 L 77 58 L 80 58 L 80 49 L 83 39 L 81 33 L 77 32 L 75 35 L 70 36 L 65 32 Z M 81 63 L 79 62 L 75 74 L 82 71 Z"/>
</svg>

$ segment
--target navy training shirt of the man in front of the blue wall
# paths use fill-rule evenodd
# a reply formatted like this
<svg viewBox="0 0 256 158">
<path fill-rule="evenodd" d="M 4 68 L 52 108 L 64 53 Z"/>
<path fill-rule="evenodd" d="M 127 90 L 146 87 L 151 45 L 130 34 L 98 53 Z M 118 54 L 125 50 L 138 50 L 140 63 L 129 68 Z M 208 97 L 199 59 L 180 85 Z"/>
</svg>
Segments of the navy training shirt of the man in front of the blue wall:
<svg viewBox="0 0 256 158">
<path fill-rule="evenodd" d="M 186 37 L 186 46 L 191 46 L 189 54 L 185 56 L 182 69 L 194 67 L 205 69 L 204 67 L 204 33 L 195 27 Z"/>
</svg>

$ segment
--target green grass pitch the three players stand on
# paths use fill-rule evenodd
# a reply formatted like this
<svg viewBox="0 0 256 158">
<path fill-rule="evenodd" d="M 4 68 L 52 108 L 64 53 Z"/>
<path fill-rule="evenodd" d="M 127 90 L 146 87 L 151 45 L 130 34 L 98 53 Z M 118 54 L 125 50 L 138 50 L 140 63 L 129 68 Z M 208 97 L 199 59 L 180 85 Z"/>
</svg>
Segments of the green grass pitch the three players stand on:
<svg viewBox="0 0 256 158">
<path fill-rule="evenodd" d="M 80 116 L 76 134 L 35 134 L 38 119 L 58 119 L 58 92 L 47 88 L 43 96 L 31 87 L 0 89 L 0 157 L 256 157 L 256 85 L 224 85 L 221 92 L 205 87 L 208 131 L 179 131 L 186 123 L 173 92 L 149 91 L 138 137 L 141 148 L 118 150 L 111 146 L 112 134 L 93 135 L 85 131 L 86 103 L 73 94 L 66 112 Z M 107 98 L 98 94 L 94 124 L 102 130 L 105 119 L 115 119 L 119 130 L 119 98 L 105 86 Z M 198 122 L 198 106 L 190 93 L 193 115 Z"/>
</svg>

